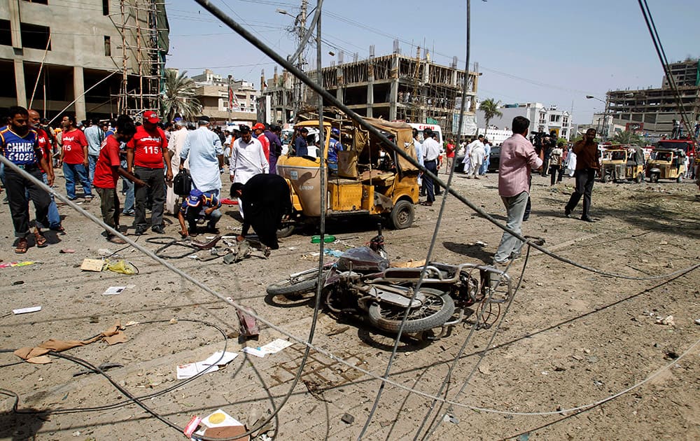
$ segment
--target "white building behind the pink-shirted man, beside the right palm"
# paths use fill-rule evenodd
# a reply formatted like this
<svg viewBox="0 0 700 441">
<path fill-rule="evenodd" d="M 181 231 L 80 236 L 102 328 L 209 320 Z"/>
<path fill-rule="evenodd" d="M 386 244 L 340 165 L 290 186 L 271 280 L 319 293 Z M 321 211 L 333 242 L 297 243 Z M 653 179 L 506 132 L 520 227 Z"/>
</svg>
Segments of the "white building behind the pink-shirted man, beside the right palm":
<svg viewBox="0 0 700 441">
<path fill-rule="evenodd" d="M 550 133 L 554 130 L 560 138 L 568 140 L 571 137 L 571 115 L 568 111 L 556 109 L 556 106 L 546 107 L 542 103 L 505 104 L 498 110 L 503 116 L 492 118 L 489 127 L 486 127 L 484 111 L 477 110 L 479 133 L 486 133 L 488 136 L 489 130 L 510 130 L 513 118 L 524 116 L 530 120 L 528 132 Z"/>
</svg>

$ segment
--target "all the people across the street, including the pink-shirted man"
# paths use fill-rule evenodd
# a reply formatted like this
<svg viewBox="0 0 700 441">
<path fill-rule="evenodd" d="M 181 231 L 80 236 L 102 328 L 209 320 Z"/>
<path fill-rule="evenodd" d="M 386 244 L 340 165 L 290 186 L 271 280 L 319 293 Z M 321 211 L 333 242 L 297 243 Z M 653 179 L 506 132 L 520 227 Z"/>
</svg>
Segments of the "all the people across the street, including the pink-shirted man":
<svg viewBox="0 0 700 441">
<path fill-rule="evenodd" d="M 292 211 L 288 185 L 285 179 L 276 176 L 276 161 L 283 151 L 281 128 L 263 123 L 253 127 L 239 125 L 235 131 L 210 127 L 206 116 L 197 118 L 196 129 L 188 129 L 182 118 L 164 125 L 157 113 L 146 111 L 141 123 L 123 115 L 109 122 L 79 124 L 74 116 L 66 114 L 62 116 L 61 130 L 55 132 L 41 121 L 36 111 L 13 106 L 8 125 L 0 129 L 0 153 L 18 169 L 48 186 L 55 181 L 54 167 L 62 167 L 69 200 L 78 198 L 76 183 L 80 183 L 85 202 L 92 200 L 94 190 L 100 198 L 104 223 L 110 228 L 104 236 L 116 244 L 125 243 L 114 232 L 120 227 L 120 216 L 134 216 L 134 235 L 144 235 L 149 228 L 162 235 L 166 211 L 176 216 L 183 237 L 194 237 L 204 231 L 218 233 L 221 174 L 225 173 L 228 162 L 230 196 L 238 200 L 243 221 L 237 239 L 244 241 L 252 227 L 266 253 L 279 248 L 276 230 Z M 568 151 L 561 144 L 545 140 L 542 160 L 540 152 L 528 140 L 528 127 L 526 118 L 514 118 L 512 137 L 500 146 L 498 193 L 507 211 L 507 227 L 520 234 L 521 225 L 528 218 L 532 171 L 549 172 L 554 185 L 555 181 L 561 181 L 564 167 L 575 177 L 575 190 L 563 208 L 564 214 L 571 216 L 583 199 L 581 220 L 594 222 L 590 215 L 591 193 L 600 169 L 596 130 L 587 130 L 584 139 Z M 289 146 L 290 155 L 308 156 L 313 153 L 310 148 L 321 148 L 318 138 L 309 137 L 308 132 L 306 127 L 297 129 L 297 136 Z M 413 132 L 416 157 L 429 172 L 437 175 L 443 148 L 434 136 L 426 129 L 421 141 L 419 132 Z M 483 135 L 464 146 L 468 178 L 479 179 L 486 173 L 489 146 Z M 328 151 L 331 173 L 337 170 L 338 153 L 342 150 L 339 132 L 333 129 Z M 451 139 L 447 140 L 444 153 L 449 172 L 454 167 L 456 153 Z M 191 188 L 186 194 L 174 188 L 175 172 L 190 179 Z M 49 193 L 13 167 L 2 167 L 0 178 L 7 190 L 13 218 L 16 253 L 26 253 L 29 248 L 30 200 L 36 211 L 33 235 L 37 247 L 47 244 L 42 229 L 66 234 L 57 204 Z M 118 195 L 120 179 L 124 207 Z M 428 175 L 422 176 L 421 184 L 427 197 L 422 204 L 430 206 L 435 196 L 441 194 L 440 190 Z M 206 226 L 200 226 L 202 223 Z M 521 246 L 517 237 L 504 232 L 493 263 L 507 265 L 517 258 Z"/>
</svg>

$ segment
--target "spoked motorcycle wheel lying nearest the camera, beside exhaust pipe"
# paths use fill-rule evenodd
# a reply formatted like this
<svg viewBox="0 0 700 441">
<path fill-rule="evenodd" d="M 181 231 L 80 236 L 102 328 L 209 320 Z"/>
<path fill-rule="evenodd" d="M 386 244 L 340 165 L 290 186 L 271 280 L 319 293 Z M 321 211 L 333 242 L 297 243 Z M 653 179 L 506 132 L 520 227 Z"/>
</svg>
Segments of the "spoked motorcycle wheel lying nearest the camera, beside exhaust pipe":
<svg viewBox="0 0 700 441">
<path fill-rule="evenodd" d="M 426 296 L 423 306 L 409 311 L 403 332 L 421 332 L 442 326 L 454 313 L 454 301 L 448 293 L 432 288 L 421 288 Z M 375 327 L 398 333 L 404 309 L 390 304 L 374 302 L 369 309 L 370 323 Z"/>
</svg>

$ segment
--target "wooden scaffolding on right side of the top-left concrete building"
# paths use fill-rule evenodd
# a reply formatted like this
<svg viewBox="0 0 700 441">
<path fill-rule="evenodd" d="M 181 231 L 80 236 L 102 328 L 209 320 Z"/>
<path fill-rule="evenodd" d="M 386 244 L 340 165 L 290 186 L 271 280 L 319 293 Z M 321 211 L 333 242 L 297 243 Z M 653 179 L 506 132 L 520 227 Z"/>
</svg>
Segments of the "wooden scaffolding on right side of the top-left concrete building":
<svg viewBox="0 0 700 441">
<path fill-rule="evenodd" d="M 122 45 L 118 113 L 139 116 L 160 110 L 165 88 L 165 55 L 169 26 L 165 3 L 158 0 L 120 0 L 113 21 Z"/>
</svg>

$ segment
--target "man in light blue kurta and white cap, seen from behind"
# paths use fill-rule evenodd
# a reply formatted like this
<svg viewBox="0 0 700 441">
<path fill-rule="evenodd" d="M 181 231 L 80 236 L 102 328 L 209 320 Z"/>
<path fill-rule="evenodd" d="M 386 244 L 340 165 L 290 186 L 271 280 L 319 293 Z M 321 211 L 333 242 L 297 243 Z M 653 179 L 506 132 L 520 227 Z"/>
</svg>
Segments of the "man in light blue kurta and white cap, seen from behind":
<svg viewBox="0 0 700 441">
<path fill-rule="evenodd" d="M 180 158 L 190 161 L 190 176 L 195 188 L 218 197 L 221 194 L 220 170 L 223 167 L 221 138 L 209 130 L 209 118 L 200 118 L 199 126 L 187 134 Z"/>
</svg>

